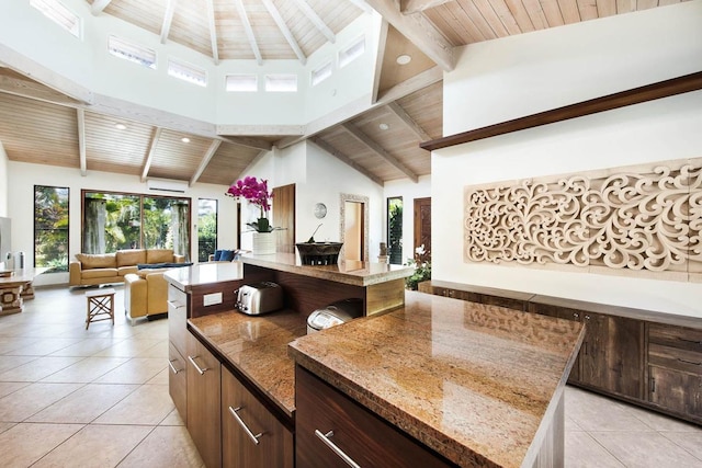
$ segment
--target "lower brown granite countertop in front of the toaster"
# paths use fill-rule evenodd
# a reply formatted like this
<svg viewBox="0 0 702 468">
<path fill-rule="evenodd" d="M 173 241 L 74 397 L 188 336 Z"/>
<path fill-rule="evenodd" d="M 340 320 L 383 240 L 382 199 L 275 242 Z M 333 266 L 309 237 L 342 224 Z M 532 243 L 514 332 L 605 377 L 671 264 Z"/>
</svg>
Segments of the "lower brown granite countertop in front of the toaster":
<svg viewBox="0 0 702 468">
<path fill-rule="evenodd" d="M 285 414 L 295 411 L 295 364 L 287 343 L 307 332 L 306 317 L 281 310 L 262 316 L 227 311 L 188 321 L 219 354 Z"/>
</svg>

